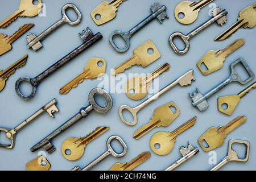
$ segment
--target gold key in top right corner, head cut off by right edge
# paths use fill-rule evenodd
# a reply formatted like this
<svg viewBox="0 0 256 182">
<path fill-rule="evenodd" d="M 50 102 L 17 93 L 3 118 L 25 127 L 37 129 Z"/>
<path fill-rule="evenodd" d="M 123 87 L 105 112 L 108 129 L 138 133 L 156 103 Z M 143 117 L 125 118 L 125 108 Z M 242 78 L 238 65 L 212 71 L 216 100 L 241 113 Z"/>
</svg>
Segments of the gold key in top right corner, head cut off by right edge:
<svg viewBox="0 0 256 182">
<path fill-rule="evenodd" d="M 233 24 L 228 30 L 219 35 L 215 41 L 225 40 L 229 38 L 234 32 L 236 32 L 239 28 L 253 28 L 256 24 L 256 11 L 254 10 L 256 7 L 256 3 L 253 5 L 246 7 L 239 13 L 239 18 L 237 22 Z"/>
</svg>

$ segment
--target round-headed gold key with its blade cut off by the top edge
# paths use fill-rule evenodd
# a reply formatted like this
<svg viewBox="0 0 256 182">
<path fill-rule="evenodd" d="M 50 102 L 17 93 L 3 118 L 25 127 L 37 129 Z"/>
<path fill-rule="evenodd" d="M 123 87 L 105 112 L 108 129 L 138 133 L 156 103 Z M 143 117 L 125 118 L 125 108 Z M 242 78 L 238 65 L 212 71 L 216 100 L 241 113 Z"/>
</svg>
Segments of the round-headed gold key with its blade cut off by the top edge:
<svg viewBox="0 0 256 182">
<path fill-rule="evenodd" d="M 199 1 L 183 1 L 180 2 L 174 11 L 175 18 L 178 22 L 182 24 L 191 24 L 195 22 L 199 11 L 204 6 L 208 5 L 213 0 L 199 0 Z M 179 18 L 179 15 L 183 14 L 183 18 Z"/>
</svg>

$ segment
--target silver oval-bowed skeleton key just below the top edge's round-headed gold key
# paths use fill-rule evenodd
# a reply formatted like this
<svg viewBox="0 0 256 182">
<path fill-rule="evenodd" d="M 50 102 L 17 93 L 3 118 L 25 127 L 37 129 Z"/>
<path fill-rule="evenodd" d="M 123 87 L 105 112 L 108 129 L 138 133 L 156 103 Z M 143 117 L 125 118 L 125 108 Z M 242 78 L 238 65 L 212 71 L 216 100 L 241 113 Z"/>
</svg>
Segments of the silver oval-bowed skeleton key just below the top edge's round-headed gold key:
<svg viewBox="0 0 256 182">
<path fill-rule="evenodd" d="M 174 49 L 174 52 L 176 52 L 179 55 L 184 55 L 185 53 L 188 52 L 189 49 L 189 39 L 191 39 L 193 36 L 195 36 L 197 33 L 201 32 L 204 30 L 204 28 L 208 27 L 210 24 L 217 22 L 218 25 L 222 26 L 223 24 L 226 23 L 226 14 L 228 14 L 227 10 L 222 10 L 220 7 L 217 7 L 212 11 L 213 18 L 209 19 L 207 22 L 201 24 L 201 26 L 197 27 L 195 30 L 192 30 L 189 34 L 184 35 L 181 32 L 174 32 L 170 38 L 169 38 L 169 43 L 172 49 Z M 185 47 L 184 49 L 179 49 L 175 46 L 174 44 L 174 38 L 180 38 L 183 40 Z"/>
</svg>

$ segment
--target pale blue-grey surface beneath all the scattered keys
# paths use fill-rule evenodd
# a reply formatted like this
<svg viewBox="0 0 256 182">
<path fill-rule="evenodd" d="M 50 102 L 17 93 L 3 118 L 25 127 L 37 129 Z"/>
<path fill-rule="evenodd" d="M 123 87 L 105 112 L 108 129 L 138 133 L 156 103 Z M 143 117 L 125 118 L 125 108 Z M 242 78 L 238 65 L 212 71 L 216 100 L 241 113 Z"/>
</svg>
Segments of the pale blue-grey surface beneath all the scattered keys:
<svg viewBox="0 0 256 182">
<path fill-rule="evenodd" d="M 108 37 L 110 32 L 114 30 L 128 31 L 131 27 L 135 26 L 142 19 L 146 18 L 151 11 L 150 6 L 155 1 L 151 0 L 130 0 L 123 2 L 121 6 L 118 7 L 117 17 L 111 22 L 106 23 L 102 26 L 97 26 L 94 24 L 93 20 L 90 18 L 90 13 L 99 5 L 102 1 L 49 1 L 44 0 L 46 3 L 46 17 L 34 17 L 34 18 L 18 18 L 14 23 L 5 29 L 1 29 L 2 33 L 11 35 L 13 32 L 18 30 L 18 27 L 24 23 L 35 23 L 35 27 L 31 29 L 36 35 L 39 35 L 43 30 L 49 27 L 51 24 L 55 23 L 56 20 L 61 18 L 61 8 L 65 3 L 74 3 L 82 13 L 82 22 L 75 27 L 71 27 L 65 24 L 63 27 L 59 28 L 53 34 L 49 35 L 47 39 L 43 40 L 44 47 L 38 52 L 33 52 L 28 50 L 26 47 L 26 36 L 22 36 L 15 43 L 13 43 L 13 50 L 6 53 L 0 57 L 0 67 L 1 69 L 7 68 L 9 65 L 13 64 L 14 61 L 18 60 L 20 57 L 26 53 L 29 55 L 28 61 L 25 67 L 18 69 L 13 76 L 9 78 L 6 83 L 6 87 L 0 93 L 0 112 L 1 112 L 1 127 L 13 128 L 26 119 L 34 111 L 38 110 L 41 106 L 45 105 L 52 98 L 56 98 L 59 102 L 57 107 L 59 107 L 59 113 L 56 113 L 55 119 L 52 119 L 48 114 L 43 114 L 26 128 L 18 133 L 16 136 L 16 143 L 13 150 L 6 150 L 0 148 L 0 169 L 1 170 L 24 170 L 26 163 L 38 156 L 38 152 L 30 152 L 30 147 L 35 143 L 39 142 L 42 138 L 48 135 L 51 131 L 60 126 L 63 122 L 67 121 L 72 117 L 80 107 L 88 105 L 88 93 L 91 89 L 98 85 L 96 80 L 85 80 L 76 89 L 71 90 L 68 95 L 62 96 L 59 94 L 59 89 L 65 85 L 72 78 L 81 73 L 84 65 L 90 59 L 90 57 L 102 57 L 107 61 L 106 74 L 110 75 L 110 69 L 121 64 L 123 61 L 133 56 L 133 49 L 137 48 L 146 40 L 151 39 L 156 47 L 159 49 L 162 57 L 156 61 L 154 64 L 149 65 L 147 68 L 133 67 L 127 70 L 125 73 L 150 73 L 160 65 L 164 63 L 170 63 L 171 69 L 167 73 L 163 73 L 159 79 L 159 88 L 169 84 L 175 78 L 187 72 L 188 69 L 195 70 L 196 82 L 193 82 L 192 86 L 187 88 L 181 88 L 176 86 L 174 89 L 170 90 L 168 93 L 161 96 L 154 104 L 150 104 L 141 110 L 138 114 L 138 123 L 134 127 L 126 126 L 119 119 L 118 109 L 120 105 L 137 106 L 142 101 L 132 101 L 125 94 L 112 94 L 114 105 L 113 109 L 108 114 L 98 114 L 93 112 L 88 118 L 82 119 L 75 126 L 71 127 L 65 133 L 61 134 L 59 137 L 54 139 L 52 142 L 56 146 L 57 150 L 53 154 L 48 155 L 47 159 L 51 163 L 51 170 L 69 170 L 76 165 L 80 167 L 86 166 L 97 156 L 101 155 L 102 152 L 106 150 L 106 140 L 110 135 L 119 135 L 125 140 L 128 146 L 127 154 L 121 158 L 117 159 L 113 156 L 109 156 L 100 164 L 95 166 L 93 170 L 108 170 L 116 162 L 129 162 L 131 159 L 135 158 L 138 154 L 143 151 L 151 151 L 149 146 L 150 137 L 156 131 L 172 131 L 178 126 L 187 122 L 194 115 L 197 115 L 198 119 L 195 126 L 181 134 L 177 137 L 174 149 L 172 152 L 166 156 L 158 156 L 151 152 L 151 158 L 143 163 L 141 166 L 137 167 L 138 170 L 163 170 L 174 163 L 177 159 L 181 157 L 179 153 L 180 146 L 187 146 L 187 142 L 190 141 L 193 146 L 197 146 L 200 149 L 199 154 L 194 158 L 188 160 L 182 166 L 176 170 L 208 170 L 213 167 L 208 163 L 208 153 L 201 150 L 197 139 L 210 127 L 210 126 L 222 126 L 226 125 L 233 118 L 238 115 L 246 115 L 247 122 L 240 126 L 237 130 L 233 131 L 225 139 L 223 146 L 216 148 L 216 158 L 217 162 L 220 162 L 227 154 L 228 141 L 229 139 L 244 139 L 251 143 L 250 148 L 250 158 L 247 163 L 236 163 L 232 162 L 227 164 L 222 169 L 224 170 L 255 170 L 256 161 L 256 148 L 255 148 L 255 91 L 252 91 L 248 96 L 244 97 L 240 104 L 238 105 L 236 111 L 232 116 L 227 116 L 220 113 L 217 110 L 217 98 L 220 96 L 226 96 L 229 94 L 237 94 L 246 86 L 241 86 L 240 84 L 233 83 L 230 84 L 225 89 L 222 89 L 216 95 L 211 97 L 208 101 L 210 107 L 204 113 L 200 113 L 195 107 L 192 107 L 191 100 L 188 96 L 189 92 L 195 90 L 198 87 L 201 92 L 205 93 L 210 88 L 218 84 L 220 81 L 224 80 L 229 76 L 229 65 L 238 57 L 243 57 L 247 63 L 250 65 L 253 71 L 256 71 L 255 63 L 255 29 L 247 28 L 246 30 L 238 30 L 236 34 L 232 35 L 231 38 L 226 39 L 223 42 L 214 42 L 213 39 L 216 38 L 221 32 L 226 28 L 231 26 L 236 22 L 238 18 L 238 13 L 245 7 L 255 3 L 253 0 L 247 1 L 214 1 L 222 9 L 227 9 L 228 23 L 224 27 L 217 26 L 217 24 L 212 24 L 206 30 L 200 32 L 195 38 L 191 39 L 191 47 L 189 52 L 184 56 L 179 56 L 174 53 L 168 44 L 168 38 L 172 32 L 180 31 L 187 34 L 189 31 L 196 28 L 201 23 L 208 20 L 210 17 L 208 15 L 209 7 L 204 7 L 200 11 L 199 18 L 195 23 L 188 26 L 184 26 L 176 21 L 174 18 L 174 9 L 177 3 L 180 1 L 159 1 L 162 5 L 167 6 L 167 14 L 170 19 L 164 20 L 163 24 L 160 24 L 158 20 L 152 21 L 147 27 L 139 31 L 137 34 L 131 38 L 131 46 L 129 51 L 126 53 L 117 53 L 114 51 L 112 46 L 110 46 Z M 19 6 L 19 1 L 9 0 L 1 1 L 0 19 L 3 20 L 11 13 L 14 12 Z M 71 15 L 72 13 L 69 12 Z M 36 96 L 30 101 L 23 101 L 20 99 L 14 90 L 15 81 L 20 76 L 31 76 L 34 77 L 44 69 L 48 68 L 50 65 L 55 63 L 61 57 L 66 55 L 69 51 L 73 50 L 79 46 L 82 42 L 77 35 L 84 28 L 90 27 L 94 33 L 100 31 L 104 35 L 103 40 L 98 42 L 95 46 L 88 49 L 86 52 L 82 53 L 76 59 L 72 60 L 71 63 L 65 65 L 56 73 L 53 73 L 50 77 L 40 84 L 38 87 Z M 217 50 L 226 47 L 228 44 L 233 42 L 233 40 L 238 38 L 245 39 L 245 46 L 238 49 L 235 53 L 230 55 L 225 63 L 224 67 L 217 72 L 212 73 L 209 76 L 203 76 L 199 69 L 196 67 L 197 61 L 210 49 Z M 250 82 L 251 84 L 251 82 Z M 180 109 L 180 116 L 168 127 L 160 127 L 158 129 L 152 130 L 150 133 L 144 135 L 139 140 L 133 139 L 133 133 L 138 127 L 141 127 L 144 123 L 150 121 L 150 117 L 156 107 L 166 104 L 167 102 L 174 101 L 177 107 Z M 60 151 L 61 143 L 68 137 L 82 137 L 97 126 L 109 126 L 110 130 L 101 137 L 97 138 L 85 149 L 84 156 L 76 162 L 69 162 L 66 160 Z M 1 140 L 4 139 L 4 135 L 1 134 Z M 116 143 L 114 147 L 117 150 L 121 150 Z M 236 147 L 240 152 L 244 150 L 242 147 Z M 242 152 L 243 153 L 243 152 Z"/>
</svg>

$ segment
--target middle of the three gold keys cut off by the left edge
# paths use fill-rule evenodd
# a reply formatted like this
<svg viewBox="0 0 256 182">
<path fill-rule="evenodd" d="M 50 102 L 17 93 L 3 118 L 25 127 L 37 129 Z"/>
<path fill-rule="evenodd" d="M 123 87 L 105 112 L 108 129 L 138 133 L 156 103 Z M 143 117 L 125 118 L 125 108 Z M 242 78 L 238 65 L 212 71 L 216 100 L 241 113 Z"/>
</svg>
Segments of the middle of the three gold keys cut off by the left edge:
<svg viewBox="0 0 256 182">
<path fill-rule="evenodd" d="M 24 24 L 11 36 L 0 34 L 0 56 L 10 51 L 13 48 L 11 44 L 32 27 L 34 27 L 34 24 Z"/>
</svg>

